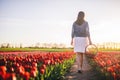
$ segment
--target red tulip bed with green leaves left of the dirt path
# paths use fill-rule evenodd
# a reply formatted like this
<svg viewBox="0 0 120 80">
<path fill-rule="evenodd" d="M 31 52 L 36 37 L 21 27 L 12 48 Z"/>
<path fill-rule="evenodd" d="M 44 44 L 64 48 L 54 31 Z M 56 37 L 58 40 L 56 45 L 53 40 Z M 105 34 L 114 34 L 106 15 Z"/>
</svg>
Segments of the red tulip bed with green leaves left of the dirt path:
<svg viewBox="0 0 120 80">
<path fill-rule="evenodd" d="M 0 80 L 61 80 L 73 52 L 0 52 Z"/>
</svg>

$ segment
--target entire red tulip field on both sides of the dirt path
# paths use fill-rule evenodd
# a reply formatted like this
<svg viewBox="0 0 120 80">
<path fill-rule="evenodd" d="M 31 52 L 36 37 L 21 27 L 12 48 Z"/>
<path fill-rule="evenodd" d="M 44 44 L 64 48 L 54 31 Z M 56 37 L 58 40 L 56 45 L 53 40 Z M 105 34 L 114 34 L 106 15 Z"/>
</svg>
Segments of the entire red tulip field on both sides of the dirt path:
<svg viewBox="0 0 120 80">
<path fill-rule="evenodd" d="M 98 80 L 120 80 L 120 51 L 86 53 Z M 0 80 L 65 80 L 73 51 L 0 51 Z"/>
</svg>

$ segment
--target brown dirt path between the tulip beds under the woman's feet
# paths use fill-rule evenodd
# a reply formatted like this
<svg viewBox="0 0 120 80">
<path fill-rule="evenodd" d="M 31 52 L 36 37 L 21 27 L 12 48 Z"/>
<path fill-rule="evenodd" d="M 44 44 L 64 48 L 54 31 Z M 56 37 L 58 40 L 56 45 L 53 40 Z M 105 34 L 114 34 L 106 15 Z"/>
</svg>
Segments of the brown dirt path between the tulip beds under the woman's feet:
<svg viewBox="0 0 120 80">
<path fill-rule="evenodd" d="M 70 72 L 66 74 L 65 80 L 97 80 L 97 78 L 95 72 L 88 63 L 87 57 L 84 55 L 82 74 L 77 73 L 77 64 L 75 62 L 71 67 Z"/>
</svg>

